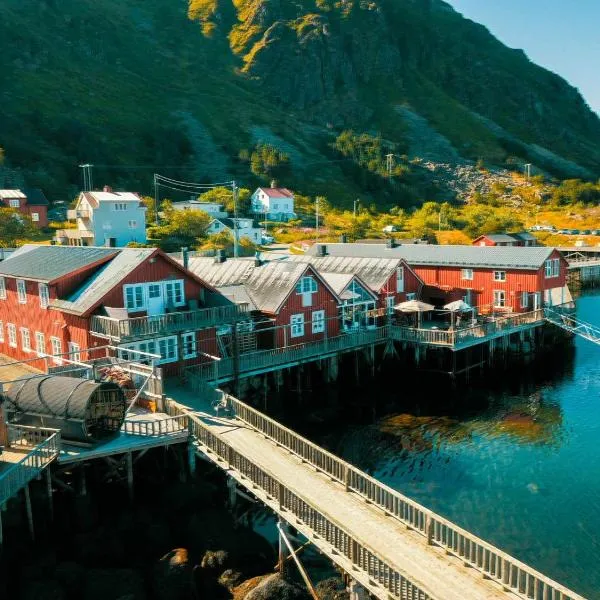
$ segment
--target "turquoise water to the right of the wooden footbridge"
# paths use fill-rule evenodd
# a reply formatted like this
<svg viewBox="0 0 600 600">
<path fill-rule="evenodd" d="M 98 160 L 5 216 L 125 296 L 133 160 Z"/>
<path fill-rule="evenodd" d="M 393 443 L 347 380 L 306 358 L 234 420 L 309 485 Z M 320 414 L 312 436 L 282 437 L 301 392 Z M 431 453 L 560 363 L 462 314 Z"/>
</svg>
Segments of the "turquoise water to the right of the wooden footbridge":
<svg viewBox="0 0 600 600">
<path fill-rule="evenodd" d="M 600 325 L 600 296 L 577 301 Z M 600 346 L 521 365 L 484 408 L 407 410 L 351 429 L 338 452 L 590 599 L 600 599 Z M 557 354 L 558 353 L 558 354 Z M 564 353 L 564 364 L 561 354 Z M 519 389 L 520 380 L 528 380 Z M 506 391 L 506 389 L 512 391 Z M 517 391 L 515 391 L 515 388 Z"/>
</svg>

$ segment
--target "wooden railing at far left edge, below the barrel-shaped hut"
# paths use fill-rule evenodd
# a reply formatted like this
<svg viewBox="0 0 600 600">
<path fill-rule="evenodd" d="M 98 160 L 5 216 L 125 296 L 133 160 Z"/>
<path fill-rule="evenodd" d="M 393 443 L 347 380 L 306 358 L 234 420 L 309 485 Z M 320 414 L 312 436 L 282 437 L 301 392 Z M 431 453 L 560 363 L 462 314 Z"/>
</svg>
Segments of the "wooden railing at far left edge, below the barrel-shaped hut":
<svg viewBox="0 0 600 600">
<path fill-rule="evenodd" d="M 23 454 L 19 462 L 0 472 L 0 506 L 37 478 L 60 451 L 60 432 L 56 429 L 9 425 L 8 439 L 7 452 L 11 449 L 29 452 Z"/>
</svg>

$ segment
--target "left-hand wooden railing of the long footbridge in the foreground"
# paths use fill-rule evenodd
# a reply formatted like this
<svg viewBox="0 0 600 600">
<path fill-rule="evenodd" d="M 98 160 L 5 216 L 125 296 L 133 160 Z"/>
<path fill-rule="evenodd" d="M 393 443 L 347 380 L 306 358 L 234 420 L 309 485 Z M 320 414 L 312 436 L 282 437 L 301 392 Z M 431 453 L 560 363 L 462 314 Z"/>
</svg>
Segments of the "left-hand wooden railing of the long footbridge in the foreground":
<svg viewBox="0 0 600 600">
<path fill-rule="evenodd" d="M 220 436 L 212 433 L 200 419 L 193 415 L 189 417 L 192 435 L 201 446 L 251 481 L 252 488 L 259 488 L 280 511 L 293 514 L 296 527 L 300 528 L 300 524 L 303 524 L 310 532 L 317 534 L 330 547 L 335 548 L 338 554 L 343 555 L 352 564 L 353 569 L 362 571 L 397 598 L 441 600 L 441 597 L 433 596 L 414 585 L 405 573 L 390 566 L 375 550 L 356 540 L 342 524 L 305 502 L 267 469 L 237 452 Z"/>
</svg>

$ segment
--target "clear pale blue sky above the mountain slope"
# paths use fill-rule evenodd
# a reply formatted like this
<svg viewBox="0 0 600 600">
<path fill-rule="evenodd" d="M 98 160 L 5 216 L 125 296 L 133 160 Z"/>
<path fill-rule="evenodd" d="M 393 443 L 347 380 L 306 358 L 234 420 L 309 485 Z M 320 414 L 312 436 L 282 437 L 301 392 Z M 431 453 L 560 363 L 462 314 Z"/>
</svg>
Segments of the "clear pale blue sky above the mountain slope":
<svg viewBox="0 0 600 600">
<path fill-rule="evenodd" d="M 446 0 L 583 94 L 600 114 L 600 0 Z"/>
</svg>

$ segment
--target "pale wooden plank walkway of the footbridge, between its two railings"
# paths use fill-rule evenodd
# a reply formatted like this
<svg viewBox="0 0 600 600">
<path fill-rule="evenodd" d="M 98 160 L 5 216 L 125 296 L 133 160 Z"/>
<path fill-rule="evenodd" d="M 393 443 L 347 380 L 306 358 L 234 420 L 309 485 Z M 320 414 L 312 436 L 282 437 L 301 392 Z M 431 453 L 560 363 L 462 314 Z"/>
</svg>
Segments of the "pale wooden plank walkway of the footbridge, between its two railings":
<svg viewBox="0 0 600 600">
<path fill-rule="evenodd" d="M 286 487 L 309 505 L 318 508 L 365 546 L 376 549 L 379 558 L 405 573 L 430 598 L 506 600 L 515 597 L 497 583 L 483 579 L 474 569 L 465 568 L 461 561 L 446 555 L 441 548 L 427 545 L 423 536 L 386 517 L 383 511 L 356 494 L 345 492 L 339 483 L 309 467 L 244 422 L 196 414 L 212 433 L 238 453 L 269 472 L 274 479 L 285 481 Z M 256 491 L 251 485 L 247 487 L 251 492 Z M 283 516 L 286 517 L 285 512 Z M 295 524 L 294 518 L 290 523 Z M 319 546 L 319 540 L 313 541 Z M 329 549 L 323 550 L 328 552 Z M 375 590 L 379 592 L 378 597 L 388 597 L 389 592 L 383 588 L 375 586 L 371 589 L 372 592 Z"/>
</svg>

